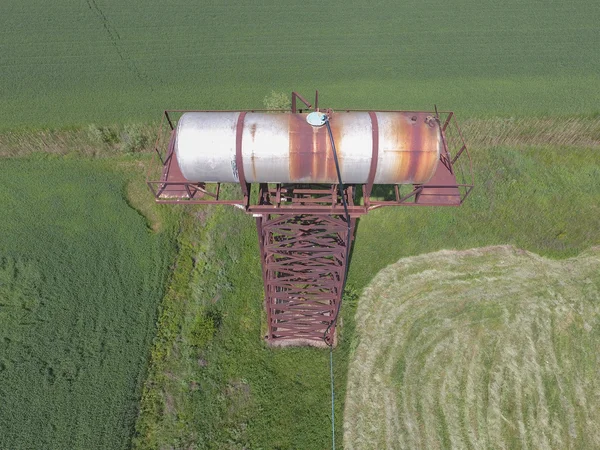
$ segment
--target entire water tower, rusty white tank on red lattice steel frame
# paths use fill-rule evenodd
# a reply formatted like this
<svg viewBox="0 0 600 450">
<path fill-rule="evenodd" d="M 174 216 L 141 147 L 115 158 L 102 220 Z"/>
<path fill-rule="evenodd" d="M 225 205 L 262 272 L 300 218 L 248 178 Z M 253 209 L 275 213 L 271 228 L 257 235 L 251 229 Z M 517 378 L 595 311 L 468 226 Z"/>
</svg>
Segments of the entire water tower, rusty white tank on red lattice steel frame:
<svg viewBox="0 0 600 450">
<path fill-rule="evenodd" d="M 155 150 L 157 202 L 256 218 L 271 345 L 334 342 L 358 217 L 459 206 L 473 189 L 453 112 L 322 111 L 318 93 L 314 106 L 292 93 L 291 111 L 165 111 Z M 222 198 L 223 183 L 242 196 Z"/>
</svg>

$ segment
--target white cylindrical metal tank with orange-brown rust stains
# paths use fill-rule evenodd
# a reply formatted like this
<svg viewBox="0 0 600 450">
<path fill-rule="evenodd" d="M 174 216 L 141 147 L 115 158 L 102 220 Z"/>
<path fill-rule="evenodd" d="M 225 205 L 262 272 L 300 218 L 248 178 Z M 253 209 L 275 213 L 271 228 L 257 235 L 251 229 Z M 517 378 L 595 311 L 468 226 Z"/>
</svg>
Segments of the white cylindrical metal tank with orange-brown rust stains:
<svg viewBox="0 0 600 450">
<path fill-rule="evenodd" d="M 306 116 L 185 113 L 175 137 L 181 172 L 192 182 L 238 182 L 241 160 L 248 183 L 337 183 L 327 129 Z M 367 183 L 371 170 L 374 184 L 420 184 L 436 171 L 443 141 L 428 113 L 336 112 L 330 124 L 346 184 Z"/>
</svg>

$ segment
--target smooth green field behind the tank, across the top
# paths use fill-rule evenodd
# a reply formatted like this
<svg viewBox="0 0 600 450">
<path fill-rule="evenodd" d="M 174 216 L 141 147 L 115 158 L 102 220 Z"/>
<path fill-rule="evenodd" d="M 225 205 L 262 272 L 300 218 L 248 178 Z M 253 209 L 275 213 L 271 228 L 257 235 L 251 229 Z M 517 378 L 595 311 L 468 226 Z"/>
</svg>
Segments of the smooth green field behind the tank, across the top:
<svg viewBox="0 0 600 450">
<path fill-rule="evenodd" d="M 273 89 L 333 108 L 593 115 L 599 17 L 589 0 L 3 1 L 0 127 L 258 108 Z"/>
</svg>

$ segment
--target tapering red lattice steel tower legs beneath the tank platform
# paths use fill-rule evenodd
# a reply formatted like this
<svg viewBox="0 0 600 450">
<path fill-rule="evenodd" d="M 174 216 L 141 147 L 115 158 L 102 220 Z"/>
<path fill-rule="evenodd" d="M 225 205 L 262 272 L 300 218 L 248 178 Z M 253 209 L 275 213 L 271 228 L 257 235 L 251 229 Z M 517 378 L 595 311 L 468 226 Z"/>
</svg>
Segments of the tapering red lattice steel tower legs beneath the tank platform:
<svg viewBox="0 0 600 450">
<path fill-rule="evenodd" d="M 352 235 L 356 219 L 351 219 Z M 275 214 L 256 218 L 271 344 L 333 344 L 331 326 L 346 271 L 344 217 Z"/>
</svg>

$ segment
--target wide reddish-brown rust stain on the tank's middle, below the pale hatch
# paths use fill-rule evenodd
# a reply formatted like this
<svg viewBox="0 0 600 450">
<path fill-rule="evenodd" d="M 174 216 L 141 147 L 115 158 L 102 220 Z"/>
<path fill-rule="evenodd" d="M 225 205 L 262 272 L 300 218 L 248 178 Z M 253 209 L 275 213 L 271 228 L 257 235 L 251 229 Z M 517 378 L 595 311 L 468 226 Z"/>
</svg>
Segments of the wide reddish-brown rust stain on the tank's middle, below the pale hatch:
<svg viewBox="0 0 600 450">
<path fill-rule="evenodd" d="M 337 180 L 333 153 L 327 128 L 316 128 L 306 122 L 306 114 L 289 114 L 289 173 L 292 182 L 334 183 Z M 336 141 L 338 159 L 339 127 L 334 125 L 332 133 Z"/>
</svg>

